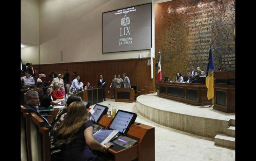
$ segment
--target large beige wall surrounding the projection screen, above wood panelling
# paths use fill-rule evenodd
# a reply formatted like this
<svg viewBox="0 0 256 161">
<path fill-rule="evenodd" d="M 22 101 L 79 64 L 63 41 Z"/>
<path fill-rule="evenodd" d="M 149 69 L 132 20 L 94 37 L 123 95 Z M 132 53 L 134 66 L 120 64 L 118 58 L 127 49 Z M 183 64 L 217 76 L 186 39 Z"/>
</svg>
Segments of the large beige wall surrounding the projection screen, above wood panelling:
<svg viewBox="0 0 256 161">
<path fill-rule="evenodd" d="M 102 54 L 101 44 L 102 12 L 150 2 L 152 0 L 40 0 L 40 64 L 129 59 L 138 58 L 139 54 L 150 57 L 150 50 Z"/>
</svg>

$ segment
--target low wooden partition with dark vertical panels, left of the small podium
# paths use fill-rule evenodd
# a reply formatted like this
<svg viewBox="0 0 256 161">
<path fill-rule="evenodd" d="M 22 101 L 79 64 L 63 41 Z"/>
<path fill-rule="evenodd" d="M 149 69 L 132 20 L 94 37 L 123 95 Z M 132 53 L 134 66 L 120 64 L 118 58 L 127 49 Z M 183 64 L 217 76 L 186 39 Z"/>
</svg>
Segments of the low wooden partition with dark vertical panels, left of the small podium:
<svg viewBox="0 0 256 161">
<path fill-rule="evenodd" d="M 83 101 L 90 102 L 91 105 L 103 102 L 103 88 L 92 88 L 84 90 Z"/>
</svg>

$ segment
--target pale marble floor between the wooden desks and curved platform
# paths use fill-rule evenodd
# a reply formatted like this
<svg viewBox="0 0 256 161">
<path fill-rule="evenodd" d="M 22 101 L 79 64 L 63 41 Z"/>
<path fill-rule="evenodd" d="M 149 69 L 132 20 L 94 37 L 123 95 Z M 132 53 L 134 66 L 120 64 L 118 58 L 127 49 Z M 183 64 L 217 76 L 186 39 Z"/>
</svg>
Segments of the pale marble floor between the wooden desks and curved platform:
<svg viewBox="0 0 256 161">
<path fill-rule="evenodd" d="M 136 113 L 138 115 L 136 122 L 155 127 L 156 161 L 235 161 L 235 150 L 215 146 L 212 138 L 176 130 L 144 118 L 137 112 L 136 102 L 121 103 L 106 99 L 99 104 L 107 106 L 108 103 L 115 106 L 117 110 Z M 184 105 L 187 106 L 187 104 Z"/>
</svg>

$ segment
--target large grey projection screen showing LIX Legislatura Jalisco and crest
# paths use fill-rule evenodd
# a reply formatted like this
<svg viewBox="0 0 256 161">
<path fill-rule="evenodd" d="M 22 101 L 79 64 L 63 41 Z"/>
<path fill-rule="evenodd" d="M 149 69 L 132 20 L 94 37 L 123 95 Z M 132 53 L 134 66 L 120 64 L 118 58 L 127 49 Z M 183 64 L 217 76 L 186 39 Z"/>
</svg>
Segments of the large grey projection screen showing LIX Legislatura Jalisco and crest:
<svg viewBox="0 0 256 161">
<path fill-rule="evenodd" d="M 102 53 L 151 48 L 152 3 L 102 13 Z"/>
</svg>

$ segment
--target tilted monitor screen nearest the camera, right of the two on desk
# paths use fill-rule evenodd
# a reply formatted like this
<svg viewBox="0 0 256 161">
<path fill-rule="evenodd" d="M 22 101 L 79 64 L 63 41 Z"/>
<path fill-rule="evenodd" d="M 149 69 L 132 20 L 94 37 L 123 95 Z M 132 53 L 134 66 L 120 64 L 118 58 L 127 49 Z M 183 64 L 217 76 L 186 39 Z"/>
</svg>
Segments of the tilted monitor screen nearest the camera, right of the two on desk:
<svg viewBox="0 0 256 161">
<path fill-rule="evenodd" d="M 114 119 L 111 121 L 109 129 L 118 130 L 120 133 L 126 134 L 131 124 L 137 118 L 137 114 L 118 110 Z"/>
</svg>

